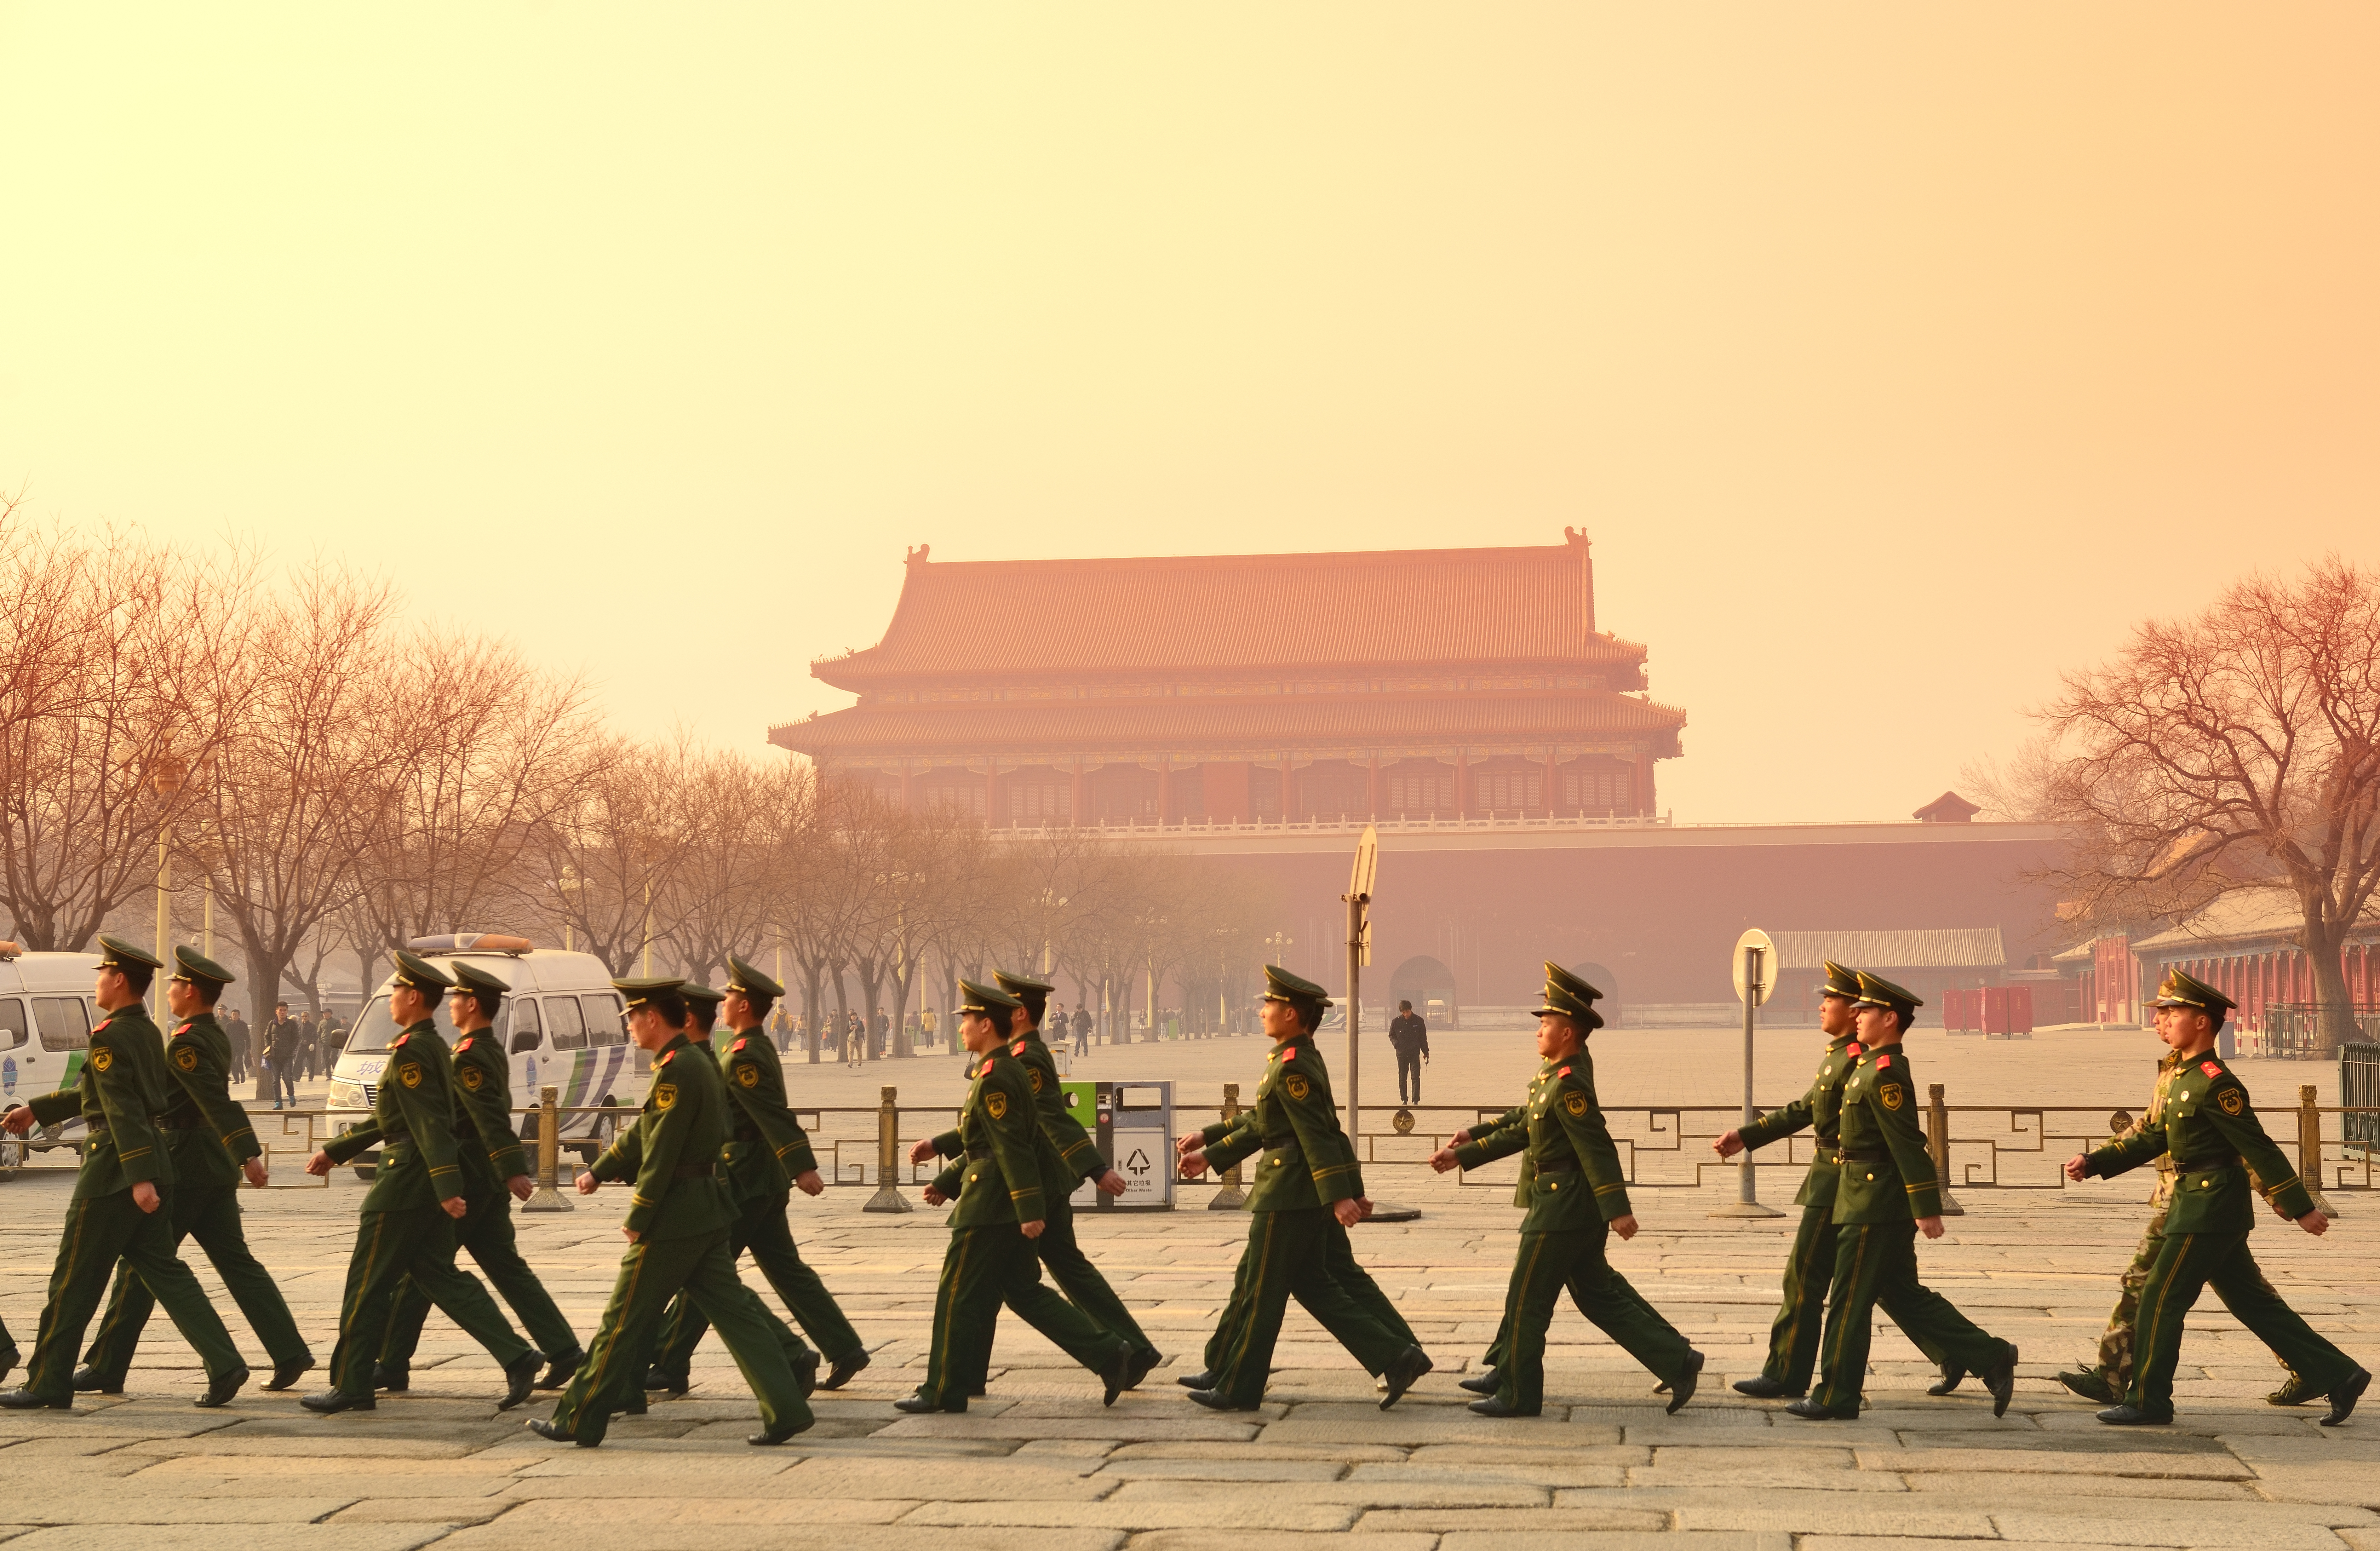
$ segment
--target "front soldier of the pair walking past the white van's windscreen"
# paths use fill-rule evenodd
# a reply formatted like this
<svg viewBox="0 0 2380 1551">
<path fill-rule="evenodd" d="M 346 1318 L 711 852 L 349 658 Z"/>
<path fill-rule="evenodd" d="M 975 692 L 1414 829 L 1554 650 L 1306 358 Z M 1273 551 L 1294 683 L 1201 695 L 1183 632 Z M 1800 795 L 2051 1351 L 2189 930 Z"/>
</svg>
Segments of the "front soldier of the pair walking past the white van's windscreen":
<svg viewBox="0 0 2380 1551">
<path fill-rule="evenodd" d="M 381 1147 L 355 1251 L 347 1256 L 331 1389 L 300 1401 L 321 1415 L 371 1411 L 378 1404 L 371 1389 L 374 1358 L 405 1280 L 505 1368 L 497 1411 L 526 1401 L 538 1380 L 538 1351 L 514 1335 L 478 1277 L 455 1268 L 455 1225 L 469 1216 L 471 1201 L 455 1142 L 455 1066 L 431 1018 L 438 994 L 450 985 L 436 963 L 397 949 L 388 1016 L 405 1032 L 388 1042 L 371 1118 L 340 1132 L 307 1161 L 307 1173 L 326 1175 L 374 1144 Z"/>
</svg>

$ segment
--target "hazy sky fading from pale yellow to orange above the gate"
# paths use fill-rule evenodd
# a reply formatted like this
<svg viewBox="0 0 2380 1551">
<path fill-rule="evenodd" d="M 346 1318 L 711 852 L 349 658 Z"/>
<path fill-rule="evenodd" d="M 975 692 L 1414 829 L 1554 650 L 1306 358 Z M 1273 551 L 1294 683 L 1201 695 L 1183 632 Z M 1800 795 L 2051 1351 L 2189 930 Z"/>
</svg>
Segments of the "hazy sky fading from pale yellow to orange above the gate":
<svg viewBox="0 0 2380 1551">
<path fill-rule="evenodd" d="M 1559 542 L 1678 821 L 2375 559 L 2373 5 L 0 0 L 0 481 L 759 747 L 938 559 Z M 1854 740 L 1859 747 L 1854 747 Z"/>
</svg>

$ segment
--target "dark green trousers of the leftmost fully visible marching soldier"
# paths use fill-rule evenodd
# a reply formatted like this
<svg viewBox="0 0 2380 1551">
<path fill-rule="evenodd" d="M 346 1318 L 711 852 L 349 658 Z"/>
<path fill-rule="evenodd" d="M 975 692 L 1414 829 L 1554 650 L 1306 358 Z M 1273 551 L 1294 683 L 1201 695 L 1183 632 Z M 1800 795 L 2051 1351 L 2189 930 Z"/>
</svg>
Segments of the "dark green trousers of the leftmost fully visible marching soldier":
<svg viewBox="0 0 2380 1551">
<path fill-rule="evenodd" d="M 205 1289 L 174 1254 L 174 1192 L 159 1189 L 157 1211 L 140 1211 L 131 1189 L 67 1204 L 67 1225 L 57 1239 L 57 1268 L 50 1270 L 50 1301 L 40 1311 L 33 1356 L 24 1365 L 24 1387 L 50 1404 L 74 1399 L 74 1349 L 100 1308 L 107 1275 L 124 1261 L 133 1275 L 164 1304 L 181 1339 L 190 1342 L 207 1377 L 217 1380 L 240 1365 L 240 1351 L 224 1330 Z"/>
</svg>

